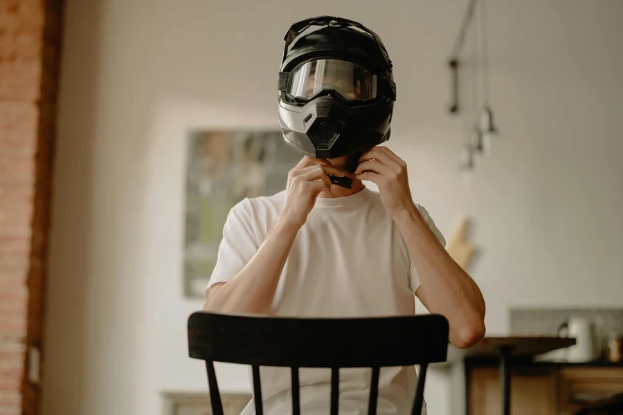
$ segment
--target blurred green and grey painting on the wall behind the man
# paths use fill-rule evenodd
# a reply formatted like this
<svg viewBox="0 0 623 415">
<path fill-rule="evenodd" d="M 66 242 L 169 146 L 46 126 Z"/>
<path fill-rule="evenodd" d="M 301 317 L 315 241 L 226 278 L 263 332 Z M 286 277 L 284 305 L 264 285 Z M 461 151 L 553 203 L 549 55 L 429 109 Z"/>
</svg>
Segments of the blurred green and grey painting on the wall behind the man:
<svg viewBox="0 0 623 415">
<path fill-rule="evenodd" d="M 301 156 L 280 131 L 192 131 L 188 143 L 184 292 L 199 298 L 216 265 L 229 210 L 246 197 L 284 190 Z"/>
</svg>

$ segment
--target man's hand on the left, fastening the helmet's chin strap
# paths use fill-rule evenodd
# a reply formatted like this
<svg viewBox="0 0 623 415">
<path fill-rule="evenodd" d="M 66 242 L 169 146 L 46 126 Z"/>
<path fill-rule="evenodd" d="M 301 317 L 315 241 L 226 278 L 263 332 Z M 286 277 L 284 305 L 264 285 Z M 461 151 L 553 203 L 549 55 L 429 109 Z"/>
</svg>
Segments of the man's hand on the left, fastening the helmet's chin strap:
<svg viewBox="0 0 623 415">
<path fill-rule="evenodd" d="M 288 173 L 286 199 L 279 216 L 280 221 L 298 227 L 303 226 L 320 192 L 331 196 L 329 174 L 345 176 L 340 169 L 329 165 L 327 160 L 303 157 Z"/>
</svg>

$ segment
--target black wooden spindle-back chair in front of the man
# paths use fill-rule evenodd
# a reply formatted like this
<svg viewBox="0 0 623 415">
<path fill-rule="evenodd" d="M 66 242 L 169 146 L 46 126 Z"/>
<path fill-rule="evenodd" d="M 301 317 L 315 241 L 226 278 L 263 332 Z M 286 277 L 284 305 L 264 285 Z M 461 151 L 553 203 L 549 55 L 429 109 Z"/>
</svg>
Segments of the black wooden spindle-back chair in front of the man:
<svg viewBox="0 0 623 415">
<path fill-rule="evenodd" d="M 381 367 L 419 365 L 412 414 L 420 415 L 429 363 L 444 362 L 449 326 L 441 315 L 353 319 L 302 319 L 193 313 L 188 319 L 190 357 L 206 361 L 214 415 L 223 415 L 213 362 L 251 365 L 255 413 L 262 415 L 260 366 L 291 368 L 292 414 L 300 414 L 298 369 L 332 369 L 331 415 L 338 415 L 339 369 L 369 367 L 368 414 L 377 413 Z"/>
</svg>

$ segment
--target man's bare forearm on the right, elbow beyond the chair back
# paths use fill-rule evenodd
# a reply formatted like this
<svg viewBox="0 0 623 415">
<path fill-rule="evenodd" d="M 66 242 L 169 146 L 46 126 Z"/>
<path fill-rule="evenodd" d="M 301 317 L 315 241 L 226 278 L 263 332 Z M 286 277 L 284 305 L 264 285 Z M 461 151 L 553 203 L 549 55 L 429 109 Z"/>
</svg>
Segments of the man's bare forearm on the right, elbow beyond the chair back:
<svg viewBox="0 0 623 415">
<path fill-rule="evenodd" d="M 421 283 L 417 296 L 428 311 L 448 319 L 455 346 L 471 346 L 485 331 L 480 289 L 437 241 L 417 208 L 394 220 L 417 268 Z"/>
</svg>

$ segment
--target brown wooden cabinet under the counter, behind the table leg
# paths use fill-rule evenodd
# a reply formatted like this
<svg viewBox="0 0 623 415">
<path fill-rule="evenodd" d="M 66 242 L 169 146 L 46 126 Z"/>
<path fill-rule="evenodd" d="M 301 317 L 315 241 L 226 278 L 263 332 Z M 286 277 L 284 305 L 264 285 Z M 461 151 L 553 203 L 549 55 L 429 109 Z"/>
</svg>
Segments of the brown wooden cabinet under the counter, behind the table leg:
<svg viewBox="0 0 623 415">
<path fill-rule="evenodd" d="M 500 375 L 494 366 L 473 366 L 468 372 L 469 414 L 502 413 Z M 623 392 L 623 367 L 525 365 L 512 371 L 513 415 L 573 415 L 581 401 Z"/>
</svg>

